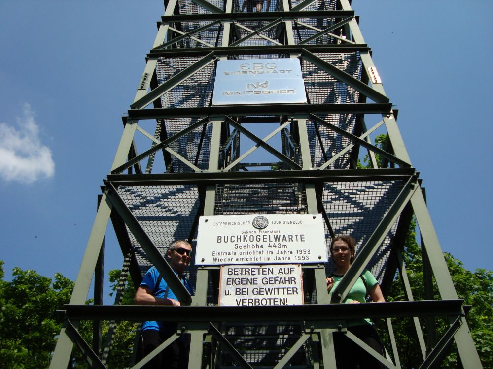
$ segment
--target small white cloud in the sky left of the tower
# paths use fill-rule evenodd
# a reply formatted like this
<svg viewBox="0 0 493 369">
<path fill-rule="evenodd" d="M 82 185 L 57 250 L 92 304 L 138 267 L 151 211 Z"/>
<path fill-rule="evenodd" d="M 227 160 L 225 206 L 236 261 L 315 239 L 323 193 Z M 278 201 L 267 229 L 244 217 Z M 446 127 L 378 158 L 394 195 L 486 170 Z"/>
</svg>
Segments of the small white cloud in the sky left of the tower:
<svg viewBox="0 0 493 369">
<path fill-rule="evenodd" d="M 0 123 L 0 178 L 5 181 L 32 183 L 55 174 L 55 162 L 49 147 L 39 139 L 39 127 L 29 104 L 23 106 L 23 117 L 17 118 L 17 129 Z"/>
</svg>

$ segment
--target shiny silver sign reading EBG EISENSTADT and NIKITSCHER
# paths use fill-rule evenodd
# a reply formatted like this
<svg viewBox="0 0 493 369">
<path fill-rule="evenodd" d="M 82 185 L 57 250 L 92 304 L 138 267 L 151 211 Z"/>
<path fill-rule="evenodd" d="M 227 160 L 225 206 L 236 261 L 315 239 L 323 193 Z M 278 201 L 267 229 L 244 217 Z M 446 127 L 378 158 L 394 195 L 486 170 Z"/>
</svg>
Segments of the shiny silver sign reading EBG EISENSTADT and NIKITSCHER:
<svg viewBox="0 0 493 369">
<path fill-rule="evenodd" d="M 212 105 L 306 103 L 298 59 L 217 62 Z"/>
</svg>

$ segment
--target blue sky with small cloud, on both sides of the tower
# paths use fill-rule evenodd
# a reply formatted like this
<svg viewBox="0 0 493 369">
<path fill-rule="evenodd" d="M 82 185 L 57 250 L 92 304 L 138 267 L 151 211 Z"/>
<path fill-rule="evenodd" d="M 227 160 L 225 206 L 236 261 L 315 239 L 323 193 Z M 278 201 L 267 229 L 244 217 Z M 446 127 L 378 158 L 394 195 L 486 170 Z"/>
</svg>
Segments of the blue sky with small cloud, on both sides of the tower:
<svg viewBox="0 0 493 369">
<path fill-rule="evenodd" d="M 0 4 L 0 259 L 7 278 L 18 266 L 75 279 L 163 4 Z M 492 270 L 493 3 L 352 5 L 442 249 Z M 106 269 L 119 268 L 106 245 Z"/>
</svg>

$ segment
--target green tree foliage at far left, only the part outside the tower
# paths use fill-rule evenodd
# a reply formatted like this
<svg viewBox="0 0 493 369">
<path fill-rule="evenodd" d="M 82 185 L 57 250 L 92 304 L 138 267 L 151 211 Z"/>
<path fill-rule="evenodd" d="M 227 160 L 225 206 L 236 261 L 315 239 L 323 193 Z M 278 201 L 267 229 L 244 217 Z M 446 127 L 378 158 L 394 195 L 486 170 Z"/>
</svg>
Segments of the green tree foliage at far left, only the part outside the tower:
<svg viewBox="0 0 493 369">
<path fill-rule="evenodd" d="M 0 261 L 0 363 L 3 368 L 46 368 L 55 349 L 61 320 L 56 310 L 68 304 L 73 282 L 33 270 L 14 268 L 4 281 Z"/>
</svg>

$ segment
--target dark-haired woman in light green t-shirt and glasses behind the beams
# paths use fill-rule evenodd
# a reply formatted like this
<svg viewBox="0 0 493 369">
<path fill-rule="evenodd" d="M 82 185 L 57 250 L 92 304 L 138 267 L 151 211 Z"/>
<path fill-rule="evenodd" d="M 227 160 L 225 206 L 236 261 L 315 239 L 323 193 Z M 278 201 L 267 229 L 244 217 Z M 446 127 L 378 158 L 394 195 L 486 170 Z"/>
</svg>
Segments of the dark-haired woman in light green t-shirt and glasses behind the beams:
<svg viewBox="0 0 493 369">
<path fill-rule="evenodd" d="M 351 267 L 355 256 L 356 243 L 350 236 L 338 236 L 332 240 L 330 253 L 336 266 L 335 271 L 326 278 L 327 292 L 332 293 L 342 277 Z M 369 294 L 373 302 L 385 302 L 380 285 L 370 271 L 365 270 L 354 283 L 344 303 L 359 304 L 366 302 Z M 348 331 L 361 339 L 375 351 L 384 355 L 384 346 L 370 319 L 347 320 Z M 368 354 L 359 345 L 342 333 L 334 333 L 334 350 L 337 368 L 356 369 L 386 368 L 380 361 Z"/>
</svg>

